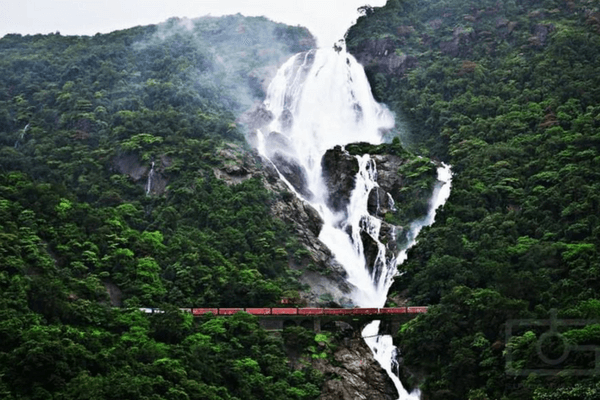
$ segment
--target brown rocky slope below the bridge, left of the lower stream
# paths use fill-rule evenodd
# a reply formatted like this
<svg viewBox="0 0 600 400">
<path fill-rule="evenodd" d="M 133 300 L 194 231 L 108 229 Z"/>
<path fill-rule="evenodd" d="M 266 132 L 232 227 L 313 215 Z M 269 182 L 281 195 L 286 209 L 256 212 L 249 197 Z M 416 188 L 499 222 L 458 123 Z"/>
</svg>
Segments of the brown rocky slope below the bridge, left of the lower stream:
<svg viewBox="0 0 600 400">
<path fill-rule="evenodd" d="M 321 400 L 397 399 L 398 392 L 383 368 L 373 358 L 360 332 L 346 329 L 340 345 L 328 359 L 314 360 L 313 367 L 330 377 Z"/>
</svg>

